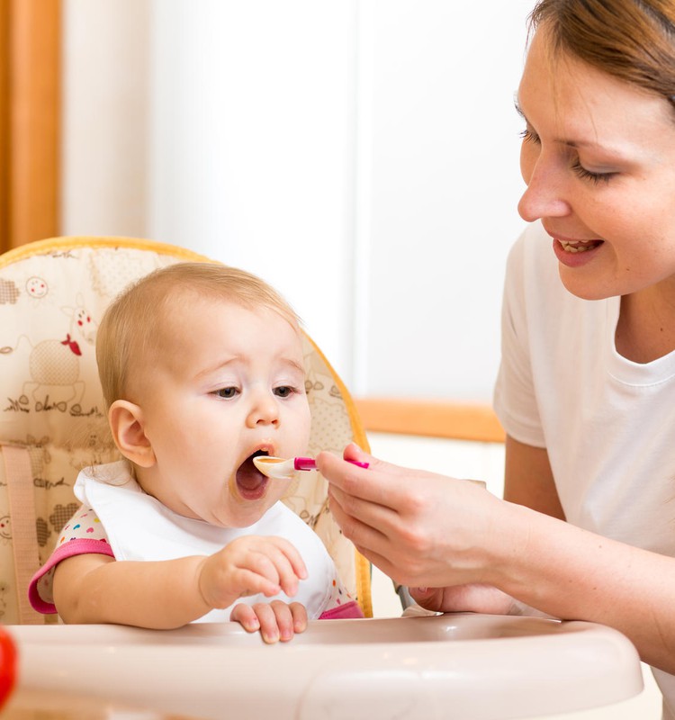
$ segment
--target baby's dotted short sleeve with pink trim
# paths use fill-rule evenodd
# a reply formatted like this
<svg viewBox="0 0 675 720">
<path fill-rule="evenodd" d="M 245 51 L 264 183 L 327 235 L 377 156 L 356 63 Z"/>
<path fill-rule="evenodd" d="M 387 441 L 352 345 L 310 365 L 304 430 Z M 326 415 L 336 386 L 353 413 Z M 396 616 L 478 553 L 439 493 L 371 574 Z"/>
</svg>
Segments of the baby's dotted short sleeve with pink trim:
<svg viewBox="0 0 675 720">
<path fill-rule="evenodd" d="M 101 521 L 93 509 L 83 505 L 61 530 L 57 546 L 47 563 L 32 577 L 28 587 L 31 606 L 44 615 L 56 613 L 52 589 L 54 569 L 68 557 L 88 553 L 114 557 Z"/>
</svg>

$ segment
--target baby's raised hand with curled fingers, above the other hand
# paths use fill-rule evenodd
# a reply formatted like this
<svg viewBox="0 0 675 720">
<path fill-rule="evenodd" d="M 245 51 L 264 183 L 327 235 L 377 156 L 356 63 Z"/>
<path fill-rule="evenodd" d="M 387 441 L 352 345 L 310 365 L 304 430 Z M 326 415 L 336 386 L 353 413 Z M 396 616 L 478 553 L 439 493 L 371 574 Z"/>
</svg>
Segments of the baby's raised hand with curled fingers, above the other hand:
<svg viewBox="0 0 675 720">
<path fill-rule="evenodd" d="M 300 553 L 283 537 L 243 536 L 204 558 L 198 586 L 209 608 L 229 608 L 238 598 L 284 592 L 293 597 L 307 577 Z"/>
</svg>

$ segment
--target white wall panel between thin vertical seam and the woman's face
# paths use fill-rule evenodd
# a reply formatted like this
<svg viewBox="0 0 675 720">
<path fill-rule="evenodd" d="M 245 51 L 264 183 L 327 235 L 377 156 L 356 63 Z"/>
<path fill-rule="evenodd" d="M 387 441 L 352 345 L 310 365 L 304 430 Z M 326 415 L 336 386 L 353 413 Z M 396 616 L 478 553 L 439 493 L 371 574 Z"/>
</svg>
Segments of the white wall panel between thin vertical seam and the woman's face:
<svg viewBox="0 0 675 720">
<path fill-rule="evenodd" d="M 491 398 L 532 5 L 362 4 L 359 392 Z"/>
</svg>

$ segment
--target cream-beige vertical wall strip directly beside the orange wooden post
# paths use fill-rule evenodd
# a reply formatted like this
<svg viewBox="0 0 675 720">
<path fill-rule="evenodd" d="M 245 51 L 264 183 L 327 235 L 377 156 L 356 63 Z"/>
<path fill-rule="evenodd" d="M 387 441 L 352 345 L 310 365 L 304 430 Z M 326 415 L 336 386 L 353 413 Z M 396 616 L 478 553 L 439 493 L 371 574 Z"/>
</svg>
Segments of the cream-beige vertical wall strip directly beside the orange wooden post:
<svg viewBox="0 0 675 720">
<path fill-rule="evenodd" d="M 147 0 L 63 3 L 61 232 L 145 237 Z"/>
</svg>

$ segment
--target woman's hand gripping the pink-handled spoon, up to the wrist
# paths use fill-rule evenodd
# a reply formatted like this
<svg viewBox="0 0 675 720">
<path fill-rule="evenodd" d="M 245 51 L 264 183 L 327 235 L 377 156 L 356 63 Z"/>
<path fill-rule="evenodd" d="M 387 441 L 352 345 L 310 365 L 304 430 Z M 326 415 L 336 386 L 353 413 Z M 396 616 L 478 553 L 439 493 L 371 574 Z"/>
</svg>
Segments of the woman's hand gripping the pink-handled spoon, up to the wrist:
<svg viewBox="0 0 675 720">
<path fill-rule="evenodd" d="M 505 530 L 506 503 L 473 482 L 383 463 L 355 445 L 344 457 L 370 466 L 329 453 L 317 465 L 338 525 L 372 563 L 409 587 L 494 584 L 500 555 L 519 541 Z"/>
</svg>

